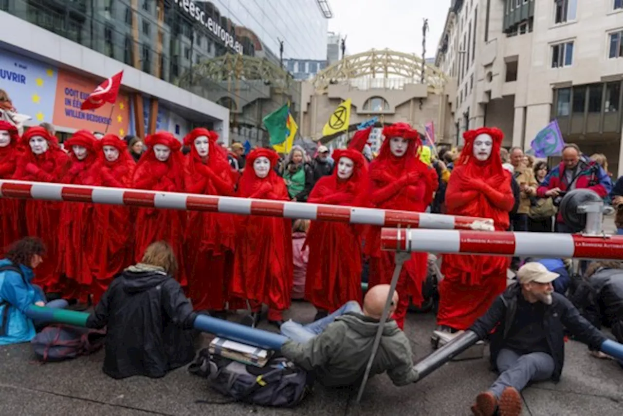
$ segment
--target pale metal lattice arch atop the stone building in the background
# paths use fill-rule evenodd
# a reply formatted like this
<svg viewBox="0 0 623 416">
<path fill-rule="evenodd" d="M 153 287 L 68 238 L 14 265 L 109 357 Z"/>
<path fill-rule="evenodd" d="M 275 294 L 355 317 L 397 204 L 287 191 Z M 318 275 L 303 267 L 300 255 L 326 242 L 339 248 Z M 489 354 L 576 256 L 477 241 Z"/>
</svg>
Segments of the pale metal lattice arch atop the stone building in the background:
<svg viewBox="0 0 623 416">
<path fill-rule="evenodd" d="M 376 79 L 396 77 L 421 82 L 422 65 L 425 68 L 424 83 L 428 85 L 429 92 L 441 94 L 447 77 L 439 68 L 426 64 L 416 54 L 389 49 L 382 51 L 371 49 L 368 52 L 346 56 L 318 72 L 313 79 L 313 85 L 316 92 L 325 93 L 330 84 L 366 77 Z"/>
</svg>

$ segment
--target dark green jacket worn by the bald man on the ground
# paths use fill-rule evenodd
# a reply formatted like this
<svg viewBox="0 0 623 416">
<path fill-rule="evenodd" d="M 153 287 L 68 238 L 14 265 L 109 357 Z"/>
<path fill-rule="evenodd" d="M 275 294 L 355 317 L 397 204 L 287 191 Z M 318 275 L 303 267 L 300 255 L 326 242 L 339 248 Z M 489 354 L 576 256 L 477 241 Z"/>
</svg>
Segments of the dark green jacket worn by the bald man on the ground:
<svg viewBox="0 0 623 416">
<path fill-rule="evenodd" d="M 306 344 L 286 342 L 281 352 L 304 369 L 314 370 L 316 379 L 327 387 L 357 385 L 368 365 L 378 326 L 375 319 L 350 312 Z M 398 386 L 417 380 L 409 339 L 394 320 L 383 326 L 370 377 L 386 371 Z"/>
</svg>

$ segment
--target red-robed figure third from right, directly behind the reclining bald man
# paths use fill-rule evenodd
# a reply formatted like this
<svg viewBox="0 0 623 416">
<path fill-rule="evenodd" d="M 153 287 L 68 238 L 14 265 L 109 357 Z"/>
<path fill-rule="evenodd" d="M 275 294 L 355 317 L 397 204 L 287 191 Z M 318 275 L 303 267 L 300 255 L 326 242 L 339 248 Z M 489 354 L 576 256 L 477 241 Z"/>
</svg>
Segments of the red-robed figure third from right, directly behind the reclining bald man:
<svg viewBox="0 0 623 416">
<path fill-rule="evenodd" d="M 308 198 L 310 203 L 366 206 L 368 168 L 361 153 L 335 150 L 333 174 L 320 178 Z M 305 298 L 318 309 L 318 317 L 348 301 L 361 302 L 361 231 L 358 225 L 313 221 L 307 234 Z"/>
</svg>

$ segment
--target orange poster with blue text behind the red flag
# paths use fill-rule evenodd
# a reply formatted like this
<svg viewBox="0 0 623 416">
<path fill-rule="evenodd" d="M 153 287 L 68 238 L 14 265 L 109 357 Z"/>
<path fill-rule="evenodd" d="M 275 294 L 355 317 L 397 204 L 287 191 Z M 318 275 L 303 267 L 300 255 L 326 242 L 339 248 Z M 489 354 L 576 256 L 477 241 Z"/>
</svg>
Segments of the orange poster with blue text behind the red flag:
<svg viewBox="0 0 623 416">
<path fill-rule="evenodd" d="M 130 103 L 128 95 L 120 92 L 117 102 L 105 104 L 97 110 L 80 110 L 82 102 L 95 90 L 100 81 L 90 80 L 77 74 L 59 70 L 54 102 L 54 125 L 108 133 L 123 137 L 130 126 Z"/>
</svg>

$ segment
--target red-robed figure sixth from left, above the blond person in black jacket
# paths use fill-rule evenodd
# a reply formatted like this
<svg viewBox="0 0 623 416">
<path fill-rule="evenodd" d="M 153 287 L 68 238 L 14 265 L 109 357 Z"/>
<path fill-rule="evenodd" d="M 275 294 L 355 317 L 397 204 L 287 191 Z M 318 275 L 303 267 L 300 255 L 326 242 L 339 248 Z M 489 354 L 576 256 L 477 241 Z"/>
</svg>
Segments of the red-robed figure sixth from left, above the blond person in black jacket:
<svg viewBox="0 0 623 416">
<path fill-rule="evenodd" d="M 195 128 L 184 137 L 191 148 L 186 160 L 186 191 L 234 196 L 234 176 L 219 135 Z M 189 211 L 186 224 L 188 294 L 197 311 L 224 311 L 233 272 L 235 221 L 231 214 Z M 230 305 L 230 309 L 232 305 Z M 245 305 L 242 303 L 241 308 Z"/>
</svg>

